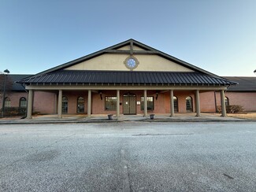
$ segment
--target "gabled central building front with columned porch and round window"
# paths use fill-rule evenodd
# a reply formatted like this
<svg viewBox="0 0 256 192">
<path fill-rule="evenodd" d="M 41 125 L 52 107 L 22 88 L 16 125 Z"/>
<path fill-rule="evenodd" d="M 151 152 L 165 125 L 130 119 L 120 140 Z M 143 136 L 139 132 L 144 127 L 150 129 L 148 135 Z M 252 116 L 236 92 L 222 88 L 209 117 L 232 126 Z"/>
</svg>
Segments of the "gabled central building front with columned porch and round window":
<svg viewBox="0 0 256 192">
<path fill-rule="evenodd" d="M 47 93 L 47 113 L 143 114 L 214 112 L 204 94 L 220 93 L 236 85 L 176 57 L 129 39 L 55 68 L 20 79 L 28 90 L 28 118 Z M 35 94 L 34 94 L 35 93 Z M 202 98 L 202 100 L 201 100 Z M 212 98 L 211 98 L 212 99 Z M 213 98 L 214 100 L 214 98 Z M 203 102 L 202 102 L 203 101 Z M 147 110 L 144 110 L 147 109 Z"/>
</svg>

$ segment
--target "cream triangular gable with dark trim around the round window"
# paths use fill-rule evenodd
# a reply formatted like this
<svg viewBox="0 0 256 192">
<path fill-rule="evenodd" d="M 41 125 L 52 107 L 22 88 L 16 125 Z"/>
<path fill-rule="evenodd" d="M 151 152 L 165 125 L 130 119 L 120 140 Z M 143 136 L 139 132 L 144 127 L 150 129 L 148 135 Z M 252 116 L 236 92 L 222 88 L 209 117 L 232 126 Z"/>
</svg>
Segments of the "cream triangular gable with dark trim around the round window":
<svg viewBox="0 0 256 192">
<path fill-rule="evenodd" d="M 50 68 L 35 76 L 58 70 L 128 70 L 124 66 L 124 60 L 129 55 L 134 55 L 138 59 L 139 65 L 135 69 L 137 71 L 202 72 L 210 76 L 216 76 L 134 39 L 129 39 L 94 54 Z"/>
</svg>

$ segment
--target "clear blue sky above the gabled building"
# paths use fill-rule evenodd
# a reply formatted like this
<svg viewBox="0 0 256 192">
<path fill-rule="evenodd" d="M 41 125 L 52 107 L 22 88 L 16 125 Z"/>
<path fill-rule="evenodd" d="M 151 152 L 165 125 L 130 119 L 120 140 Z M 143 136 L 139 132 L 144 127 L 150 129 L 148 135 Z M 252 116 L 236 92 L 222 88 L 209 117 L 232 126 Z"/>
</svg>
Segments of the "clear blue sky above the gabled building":
<svg viewBox="0 0 256 192">
<path fill-rule="evenodd" d="M 218 76 L 254 76 L 255 0 L 0 0 L 0 72 L 35 74 L 135 39 Z"/>
</svg>

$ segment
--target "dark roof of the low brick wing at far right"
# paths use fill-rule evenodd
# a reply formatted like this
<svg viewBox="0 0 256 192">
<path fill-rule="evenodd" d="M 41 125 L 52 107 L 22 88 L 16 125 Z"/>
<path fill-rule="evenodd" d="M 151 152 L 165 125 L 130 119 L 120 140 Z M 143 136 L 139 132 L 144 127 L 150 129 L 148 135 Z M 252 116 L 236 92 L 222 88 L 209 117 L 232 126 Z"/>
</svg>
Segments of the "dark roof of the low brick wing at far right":
<svg viewBox="0 0 256 192">
<path fill-rule="evenodd" d="M 228 88 L 228 91 L 238 92 L 255 92 L 256 91 L 256 77 L 249 76 L 224 76 L 225 79 L 239 83 L 236 86 Z"/>
</svg>

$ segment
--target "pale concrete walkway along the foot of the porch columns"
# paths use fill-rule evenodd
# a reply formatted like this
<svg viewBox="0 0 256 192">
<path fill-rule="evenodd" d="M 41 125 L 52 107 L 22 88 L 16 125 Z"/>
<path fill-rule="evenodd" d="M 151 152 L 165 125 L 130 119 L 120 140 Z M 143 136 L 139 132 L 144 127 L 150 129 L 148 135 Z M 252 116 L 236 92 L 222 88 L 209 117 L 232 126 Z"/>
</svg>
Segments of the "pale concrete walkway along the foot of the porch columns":
<svg viewBox="0 0 256 192">
<path fill-rule="evenodd" d="M 2 118 L 0 124 L 64 124 L 64 123 L 109 123 L 125 121 L 145 121 L 145 122 L 218 122 L 218 121 L 247 121 L 244 119 L 225 116 L 217 113 L 202 113 L 201 116 L 195 116 L 195 113 L 176 113 L 176 116 L 170 117 L 166 114 L 155 114 L 154 119 L 150 115 L 121 115 L 119 118 L 113 115 L 113 120 L 109 120 L 105 115 L 92 115 L 88 118 L 85 115 L 64 115 L 58 118 L 57 115 L 33 116 L 32 119 Z"/>
</svg>

